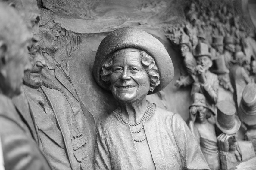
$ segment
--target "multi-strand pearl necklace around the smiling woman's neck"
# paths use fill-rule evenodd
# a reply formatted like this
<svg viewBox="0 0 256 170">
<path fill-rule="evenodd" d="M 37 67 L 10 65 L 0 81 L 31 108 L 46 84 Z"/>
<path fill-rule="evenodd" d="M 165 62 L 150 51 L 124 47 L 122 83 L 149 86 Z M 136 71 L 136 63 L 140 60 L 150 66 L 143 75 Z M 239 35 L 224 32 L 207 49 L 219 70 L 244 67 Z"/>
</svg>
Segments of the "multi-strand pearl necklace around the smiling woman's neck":
<svg viewBox="0 0 256 170">
<path fill-rule="evenodd" d="M 120 108 L 120 106 L 117 108 L 117 115 L 120 117 L 120 121 L 123 121 L 123 123 L 125 123 L 125 124 L 128 124 L 128 125 L 130 125 L 130 126 L 137 126 L 138 124 L 141 124 L 142 123 L 142 121 L 145 119 L 145 120 L 147 120 L 152 114 L 153 114 L 153 103 L 151 103 L 151 102 L 149 102 L 149 101 L 147 101 L 147 109 L 146 109 L 146 112 L 144 113 L 144 115 L 142 116 L 142 118 L 138 121 L 138 122 L 136 122 L 136 123 L 134 123 L 134 124 L 132 124 L 132 123 L 129 123 L 128 121 L 125 121 L 124 119 L 123 119 L 123 117 L 121 116 L 121 108 Z M 132 131 L 132 133 L 140 133 L 142 130 L 144 129 L 144 126 L 142 126 L 139 130 L 137 130 L 137 131 Z M 145 136 L 144 138 L 142 138 L 141 140 L 138 140 L 138 139 L 134 139 L 134 141 L 136 141 L 136 142 L 143 142 L 145 139 L 147 139 L 147 137 Z"/>
</svg>

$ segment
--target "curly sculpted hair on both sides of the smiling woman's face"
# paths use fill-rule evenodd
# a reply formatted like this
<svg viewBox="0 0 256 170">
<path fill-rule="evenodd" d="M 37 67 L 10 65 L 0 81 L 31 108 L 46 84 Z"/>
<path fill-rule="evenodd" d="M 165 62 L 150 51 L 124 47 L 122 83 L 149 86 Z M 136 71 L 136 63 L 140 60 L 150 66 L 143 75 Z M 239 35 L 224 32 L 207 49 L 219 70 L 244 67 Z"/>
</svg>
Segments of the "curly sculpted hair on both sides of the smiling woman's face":
<svg viewBox="0 0 256 170">
<path fill-rule="evenodd" d="M 158 68 L 155 64 L 155 60 L 152 56 L 148 55 L 145 51 L 140 52 L 141 64 L 148 73 L 150 79 L 150 86 L 157 87 L 160 84 L 160 76 L 158 73 Z M 110 85 L 110 73 L 112 69 L 112 56 L 102 64 L 101 67 L 101 80 L 108 85 Z"/>
</svg>

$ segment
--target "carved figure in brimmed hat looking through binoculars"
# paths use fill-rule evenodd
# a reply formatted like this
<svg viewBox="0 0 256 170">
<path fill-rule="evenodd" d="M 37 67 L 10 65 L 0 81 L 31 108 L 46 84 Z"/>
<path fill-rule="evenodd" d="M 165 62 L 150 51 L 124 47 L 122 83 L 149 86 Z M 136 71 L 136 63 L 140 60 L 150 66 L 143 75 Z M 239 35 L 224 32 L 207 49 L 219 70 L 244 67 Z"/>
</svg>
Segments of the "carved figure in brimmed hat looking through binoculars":
<svg viewBox="0 0 256 170">
<path fill-rule="evenodd" d="M 200 143 L 201 151 L 211 170 L 220 169 L 220 155 L 215 132 L 215 124 L 208 121 L 214 114 L 205 104 L 201 93 L 193 94 L 193 104 L 189 106 L 189 127 Z"/>
</svg>

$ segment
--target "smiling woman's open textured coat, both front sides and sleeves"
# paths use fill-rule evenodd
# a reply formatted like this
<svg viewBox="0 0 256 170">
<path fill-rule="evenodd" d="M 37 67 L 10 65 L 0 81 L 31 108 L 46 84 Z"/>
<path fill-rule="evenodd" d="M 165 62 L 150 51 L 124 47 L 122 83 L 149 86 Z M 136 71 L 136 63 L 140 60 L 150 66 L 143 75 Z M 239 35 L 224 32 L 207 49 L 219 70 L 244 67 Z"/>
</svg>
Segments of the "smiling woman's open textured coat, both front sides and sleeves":
<svg viewBox="0 0 256 170">
<path fill-rule="evenodd" d="M 209 169 L 179 114 L 156 106 L 143 126 L 156 169 Z M 119 121 L 114 112 L 97 127 L 95 169 L 142 169 L 130 126 Z"/>
</svg>

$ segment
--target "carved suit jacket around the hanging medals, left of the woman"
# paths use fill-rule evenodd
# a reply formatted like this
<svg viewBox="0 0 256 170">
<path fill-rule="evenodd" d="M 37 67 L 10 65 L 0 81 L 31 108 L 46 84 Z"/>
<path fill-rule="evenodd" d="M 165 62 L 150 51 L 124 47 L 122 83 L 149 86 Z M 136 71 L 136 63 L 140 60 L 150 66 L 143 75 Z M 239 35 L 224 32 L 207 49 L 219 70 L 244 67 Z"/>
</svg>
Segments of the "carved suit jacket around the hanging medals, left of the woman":
<svg viewBox="0 0 256 170">
<path fill-rule="evenodd" d="M 74 113 L 77 123 L 88 139 L 82 147 L 86 150 L 91 162 L 91 166 L 88 169 L 93 169 L 95 148 L 94 118 L 81 102 L 70 78 L 61 68 L 60 64 L 47 54 L 45 54 L 45 61 L 47 67 L 42 70 L 43 85 L 41 89 L 55 111 L 56 118 L 63 133 L 67 153 L 72 163 L 71 167 L 72 169 L 80 169 L 80 163 L 76 160 L 73 153 L 74 150 L 71 143 L 72 134 L 67 122 L 70 114 Z"/>
</svg>

